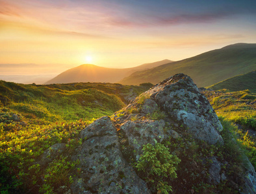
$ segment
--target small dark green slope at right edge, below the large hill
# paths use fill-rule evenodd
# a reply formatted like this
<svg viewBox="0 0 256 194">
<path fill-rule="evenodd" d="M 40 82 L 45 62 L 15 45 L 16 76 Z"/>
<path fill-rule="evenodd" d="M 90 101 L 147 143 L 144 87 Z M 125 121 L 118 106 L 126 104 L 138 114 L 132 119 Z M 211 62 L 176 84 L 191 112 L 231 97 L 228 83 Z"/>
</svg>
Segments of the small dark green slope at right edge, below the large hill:
<svg viewBox="0 0 256 194">
<path fill-rule="evenodd" d="M 214 85 L 207 87 L 213 90 L 227 89 L 229 91 L 243 91 L 249 89 L 256 92 L 256 71 L 247 74 L 235 76 L 224 81 L 220 81 Z"/>
</svg>

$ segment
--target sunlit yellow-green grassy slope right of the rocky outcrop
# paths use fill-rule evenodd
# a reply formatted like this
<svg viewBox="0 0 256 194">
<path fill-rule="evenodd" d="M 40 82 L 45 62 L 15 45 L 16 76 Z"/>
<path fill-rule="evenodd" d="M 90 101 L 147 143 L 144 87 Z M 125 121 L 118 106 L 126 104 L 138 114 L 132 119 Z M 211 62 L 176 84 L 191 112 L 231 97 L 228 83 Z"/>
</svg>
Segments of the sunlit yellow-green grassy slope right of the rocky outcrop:
<svg viewBox="0 0 256 194">
<path fill-rule="evenodd" d="M 256 93 L 245 91 L 204 90 L 219 118 L 232 122 L 231 133 L 256 167 Z M 234 125 L 236 124 L 236 125 Z M 222 122 L 225 127 L 225 122 Z M 238 125 L 238 126 L 237 126 Z"/>
</svg>

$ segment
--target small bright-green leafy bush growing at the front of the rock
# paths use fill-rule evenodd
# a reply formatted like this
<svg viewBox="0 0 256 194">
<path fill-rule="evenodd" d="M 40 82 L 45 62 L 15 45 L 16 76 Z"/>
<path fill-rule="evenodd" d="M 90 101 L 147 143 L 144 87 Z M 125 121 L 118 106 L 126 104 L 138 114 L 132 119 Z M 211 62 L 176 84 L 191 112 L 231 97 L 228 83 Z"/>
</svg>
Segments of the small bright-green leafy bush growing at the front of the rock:
<svg viewBox="0 0 256 194">
<path fill-rule="evenodd" d="M 177 178 L 175 171 L 177 164 L 181 160 L 177 156 L 170 154 L 168 147 L 160 143 L 155 144 L 155 146 L 146 144 L 142 150 L 144 152 L 140 156 L 136 168 L 138 171 L 145 173 L 147 182 L 156 182 L 157 193 L 168 194 L 169 191 L 172 191 L 172 186 L 168 185 L 164 178 Z"/>
</svg>

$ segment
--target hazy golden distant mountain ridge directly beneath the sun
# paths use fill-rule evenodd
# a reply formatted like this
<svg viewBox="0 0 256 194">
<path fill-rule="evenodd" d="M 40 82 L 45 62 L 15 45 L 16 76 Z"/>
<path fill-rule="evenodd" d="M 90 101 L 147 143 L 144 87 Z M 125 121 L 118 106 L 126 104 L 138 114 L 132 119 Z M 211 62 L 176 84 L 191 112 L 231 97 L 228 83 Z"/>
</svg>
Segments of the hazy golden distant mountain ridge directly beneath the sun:
<svg viewBox="0 0 256 194">
<path fill-rule="evenodd" d="M 112 69 L 106 67 L 99 67 L 92 64 L 83 64 L 78 67 L 66 70 L 58 74 L 55 78 L 47 81 L 45 84 L 51 83 L 73 83 L 73 82 L 108 82 L 116 83 L 125 76 L 129 76 L 137 70 L 147 70 L 165 63 L 172 63 L 168 59 L 157 61 L 155 63 L 146 63 L 137 67 L 126 69 Z"/>
</svg>

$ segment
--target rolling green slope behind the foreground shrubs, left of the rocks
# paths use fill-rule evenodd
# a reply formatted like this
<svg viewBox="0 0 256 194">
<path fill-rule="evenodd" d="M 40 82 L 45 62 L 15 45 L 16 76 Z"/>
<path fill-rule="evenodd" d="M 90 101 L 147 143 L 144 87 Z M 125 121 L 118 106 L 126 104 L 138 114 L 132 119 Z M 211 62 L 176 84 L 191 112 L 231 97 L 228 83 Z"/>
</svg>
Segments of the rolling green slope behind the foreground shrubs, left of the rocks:
<svg viewBox="0 0 256 194">
<path fill-rule="evenodd" d="M 111 83 L 25 85 L 0 81 L 0 107 L 21 113 L 25 120 L 92 120 L 111 115 L 152 85 L 123 86 Z M 127 99 L 127 100 L 125 100 Z"/>
</svg>

